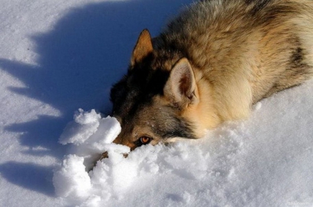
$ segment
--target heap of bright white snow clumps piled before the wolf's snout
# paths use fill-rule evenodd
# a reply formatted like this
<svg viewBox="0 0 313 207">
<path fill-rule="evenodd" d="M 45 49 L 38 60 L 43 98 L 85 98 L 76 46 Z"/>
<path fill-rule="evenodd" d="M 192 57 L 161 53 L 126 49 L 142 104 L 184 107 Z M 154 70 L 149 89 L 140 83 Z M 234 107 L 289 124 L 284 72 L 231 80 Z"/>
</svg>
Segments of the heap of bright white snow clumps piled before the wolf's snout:
<svg viewBox="0 0 313 207">
<path fill-rule="evenodd" d="M 111 179 L 116 188 L 123 188 L 131 177 L 136 176 L 136 170 L 131 170 L 131 163 L 118 165 L 125 160 L 123 154 L 129 153 L 129 147 L 113 144 L 113 140 L 120 133 L 121 128 L 114 117 L 102 118 L 95 110 L 85 112 L 79 109 L 74 114 L 74 121 L 67 124 L 59 142 L 61 144 L 72 144 L 70 155 L 65 156 L 63 165 L 54 172 L 54 188 L 60 197 L 67 197 L 74 202 L 82 201 L 81 206 L 97 206 L 99 201 L 111 197 L 108 192 L 103 196 L 102 192 L 90 194 L 93 185 L 99 184 L 106 187 L 107 181 L 114 174 L 118 179 Z M 98 161 L 91 176 L 88 169 L 92 169 L 95 161 L 99 160 L 102 153 L 108 151 L 110 159 Z M 117 165 L 118 167 L 109 167 Z M 133 171 L 133 174 L 121 179 L 123 171 Z M 100 196 L 101 195 L 101 196 Z M 77 201 L 75 201 L 77 200 Z"/>
</svg>

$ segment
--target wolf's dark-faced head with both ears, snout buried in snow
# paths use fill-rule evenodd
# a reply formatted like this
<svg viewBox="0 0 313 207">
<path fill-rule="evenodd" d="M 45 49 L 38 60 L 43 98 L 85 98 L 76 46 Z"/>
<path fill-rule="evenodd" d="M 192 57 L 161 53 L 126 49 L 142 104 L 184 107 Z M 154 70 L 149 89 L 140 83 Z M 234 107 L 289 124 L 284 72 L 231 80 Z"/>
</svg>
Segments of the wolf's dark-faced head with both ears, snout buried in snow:
<svg viewBox="0 0 313 207">
<path fill-rule="evenodd" d="M 122 126 L 115 143 L 135 149 L 199 136 L 200 99 L 191 64 L 178 51 L 153 49 L 147 30 L 138 38 L 127 75 L 113 86 L 111 101 Z"/>
</svg>

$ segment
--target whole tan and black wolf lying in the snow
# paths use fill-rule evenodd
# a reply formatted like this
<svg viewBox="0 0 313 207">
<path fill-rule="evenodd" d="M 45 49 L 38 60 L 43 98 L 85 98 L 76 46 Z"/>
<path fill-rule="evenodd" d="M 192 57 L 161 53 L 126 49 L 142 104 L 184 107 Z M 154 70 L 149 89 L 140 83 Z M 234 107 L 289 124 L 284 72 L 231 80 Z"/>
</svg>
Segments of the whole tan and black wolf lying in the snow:
<svg viewBox="0 0 313 207">
<path fill-rule="evenodd" d="M 313 1 L 199 1 L 157 38 L 147 30 L 138 38 L 127 75 L 111 90 L 122 126 L 115 143 L 200 138 L 303 83 L 312 68 Z"/>
</svg>

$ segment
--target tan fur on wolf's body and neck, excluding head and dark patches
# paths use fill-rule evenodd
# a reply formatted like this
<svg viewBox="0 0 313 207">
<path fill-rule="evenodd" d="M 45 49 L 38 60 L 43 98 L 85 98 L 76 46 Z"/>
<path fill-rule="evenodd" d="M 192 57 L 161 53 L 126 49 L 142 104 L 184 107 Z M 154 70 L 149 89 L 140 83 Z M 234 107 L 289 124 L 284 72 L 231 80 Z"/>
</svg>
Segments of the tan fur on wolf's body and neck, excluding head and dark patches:
<svg viewBox="0 0 313 207">
<path fill-rule="evenodd" d="M 211 1 L 212 8 L 207 7 L 210 4 L 207 2 L 191 6 L 181 17 L 185 27 L 179 28 L 179 21 L 182 21 L 179 19 L 172 23 L 170 31 L 166 31 L 168 39 L 179 36 L 186 40 L 179 43 L 188 44 L 186 53 L 194 72 L 205 80 L 204 84 L 197 82 L 198 88 L 205 88 L 202 90 L 205 94 L 200 94 L 200 106 L 191 106 L 184 112 L 188 119 L 199 120 L 198 126 L 202 130 L 198 131 L 213 128 L 223 121 L 246 118 L 252 104 L 259 99 L 298 85 L 312 76 L 312 68 L 309 68 L 313 60 L 312 1 L 273 1 L 273 5 L 287 5 L 296 12 L 280 14 L 268 24 L 242 18 L 248 11 L 243 1 L 228 1 L 220 11 L 222 2 Z M 211 11 L 215 15 L 211 16 L 213 24 L 204 26 L 198 14 L 211 9 L 216 9 Z M 230 11 L 229 16 L 214 19 L 225 10 Z M 206 31 L 199 31 L 201 28 Z M 304 63 L 307 65 L 303 68 L 310 72 L 297 75 L 297 72 L 287 71 L 287 63 L 299 43 L 305 49 Z"/>
</svg>

